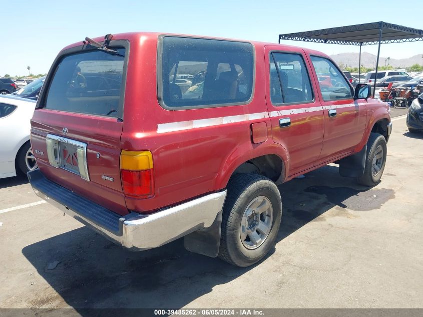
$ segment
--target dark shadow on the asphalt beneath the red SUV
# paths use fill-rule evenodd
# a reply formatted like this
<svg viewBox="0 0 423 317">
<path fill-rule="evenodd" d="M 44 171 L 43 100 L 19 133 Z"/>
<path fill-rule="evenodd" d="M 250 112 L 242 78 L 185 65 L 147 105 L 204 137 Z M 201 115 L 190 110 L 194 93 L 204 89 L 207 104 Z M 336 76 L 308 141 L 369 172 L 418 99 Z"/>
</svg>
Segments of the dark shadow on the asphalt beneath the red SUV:
<svg viewBox="0 0 423 317">
<path fill-rule="evenodd" d="M 284 197 L 279 244 L 332 207 L 367 208 L 363 207 L 368 203 L 365 197 L 376 190 L 340 177 L 335 166 L 308 173 L 279 189 Z M 383 202 L 376 202 L 375 207 Z M 22 252 L 68 305 L 87 316 L 84 308 L 180 308 L 260 265 L 238 268 L 219 258 L 190 253 L 182 239 L 157 249 L 130 252 L 86 227 L 28 245 Z M 55 261 L 59 265 L 49 270 Z M 43 307 L 48 300 L 39 298 L 32 305 Z"/>
</svg>

